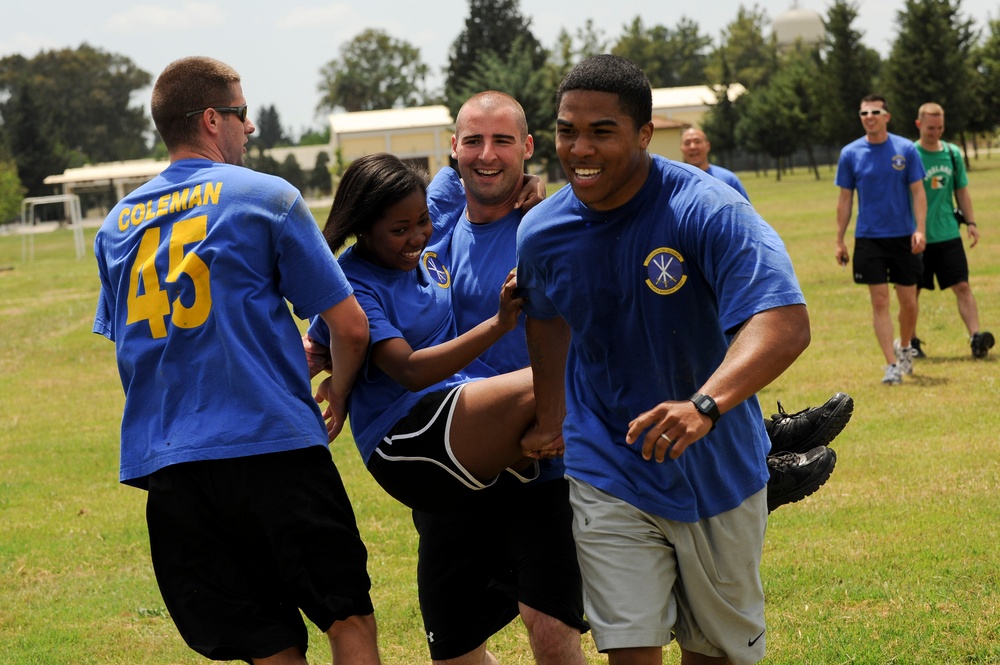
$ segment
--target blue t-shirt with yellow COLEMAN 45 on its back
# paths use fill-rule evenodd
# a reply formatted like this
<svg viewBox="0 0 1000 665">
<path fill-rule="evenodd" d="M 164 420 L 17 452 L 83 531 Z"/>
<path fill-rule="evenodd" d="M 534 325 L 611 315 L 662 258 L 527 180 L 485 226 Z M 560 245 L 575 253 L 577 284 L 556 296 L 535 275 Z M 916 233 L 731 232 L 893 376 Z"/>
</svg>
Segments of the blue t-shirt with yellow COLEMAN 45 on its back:
<svg viewBox="0 0 1000 665">
<path fill-rule="evenodd" d="M 327 445 L 288 303 L 310 317 L 351 287 L 295 188 L 174 162 L 114 207 L 94 253 L 94 332 L 115 342 L 125 390 L 121 482 Z"/>
</svg>

